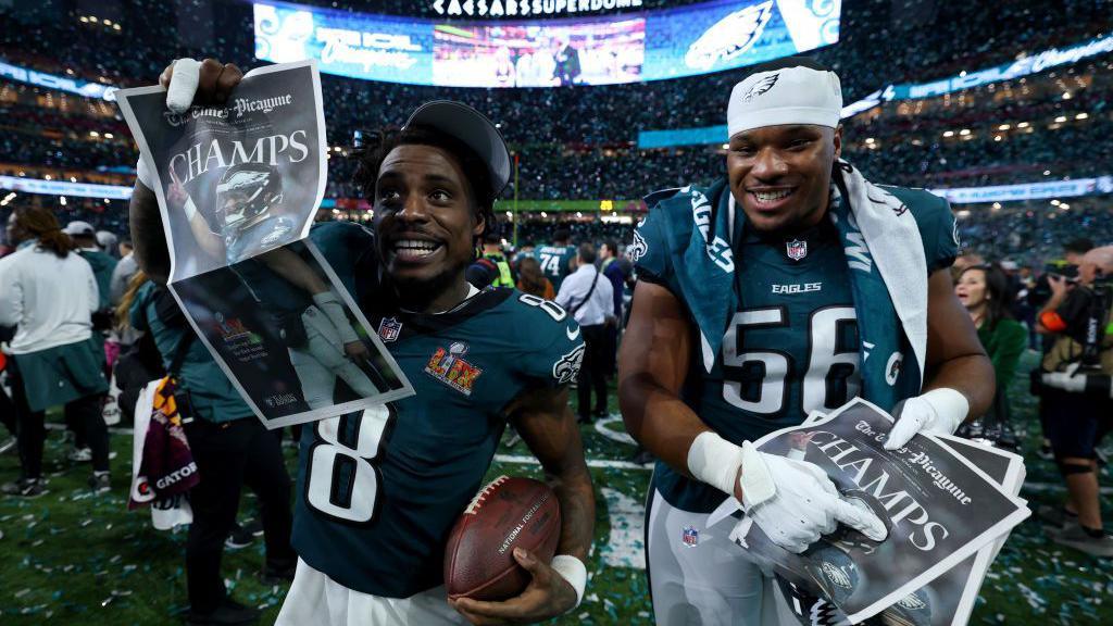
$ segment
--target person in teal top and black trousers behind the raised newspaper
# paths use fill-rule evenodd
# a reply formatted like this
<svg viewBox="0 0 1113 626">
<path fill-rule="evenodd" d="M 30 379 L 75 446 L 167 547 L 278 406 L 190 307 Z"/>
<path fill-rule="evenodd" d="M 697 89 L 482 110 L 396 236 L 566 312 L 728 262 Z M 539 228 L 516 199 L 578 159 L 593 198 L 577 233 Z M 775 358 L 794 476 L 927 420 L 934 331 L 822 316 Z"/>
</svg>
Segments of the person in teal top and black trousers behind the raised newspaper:
<svg viewBox="0 0 1113 626">
<path fill-rule="evenodd" d="M 297 555 L 290 547 L 290 480 L 275 432 L 268 431 L 213 360 L 174 296 L 151 281 L 127 293 L 117 314 L 149 332 L 162 366 L 178 388 L 175 400 L 200 482 L 189 492 L 194 521 L 186 539 L 188 624 L 247 624 L 259 612 L 228 597 L 220 575 L 225 540 L 232 532 L 244 485 L 258 496 L 266 541 L 266 585 L 294 579 Z M 178 353 L 181 355 L 178 356 Z"/>
</svg>

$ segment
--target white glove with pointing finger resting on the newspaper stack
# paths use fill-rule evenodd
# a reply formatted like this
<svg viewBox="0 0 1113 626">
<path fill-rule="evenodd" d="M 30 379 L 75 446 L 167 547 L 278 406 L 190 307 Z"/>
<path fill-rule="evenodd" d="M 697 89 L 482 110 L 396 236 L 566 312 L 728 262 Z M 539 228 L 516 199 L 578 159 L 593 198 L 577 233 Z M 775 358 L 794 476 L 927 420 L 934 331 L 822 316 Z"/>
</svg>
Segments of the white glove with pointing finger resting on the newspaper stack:
<svg viewBox="0 0 1113 626">
<path fill-rule="evenodd" d="M 749 441 L 742 444 L 741 485 L 746 515 L 790 552 L 808 549 L 839 522 L 875 541 L 888 534 L 873 511 L 841 499 L 815 463 L 759 452 Z"/>
</svg>

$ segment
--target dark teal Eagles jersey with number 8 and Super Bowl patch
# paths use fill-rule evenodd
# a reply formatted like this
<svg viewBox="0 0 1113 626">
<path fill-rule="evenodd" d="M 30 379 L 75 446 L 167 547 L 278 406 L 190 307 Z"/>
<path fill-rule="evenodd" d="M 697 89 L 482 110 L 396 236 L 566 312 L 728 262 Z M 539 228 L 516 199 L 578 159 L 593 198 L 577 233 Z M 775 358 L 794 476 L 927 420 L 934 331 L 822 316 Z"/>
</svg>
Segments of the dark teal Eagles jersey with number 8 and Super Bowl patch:
<svg viewBox="0 0 1113 626">
<path fill-rule="evenodd" d="M 329 223 L 312 237 L 416 395 L 306 424 L 294 547 L 345 587 L 408 597 L 443 584 L 449 532 L 482 486 L 508 403 L 573 380 L 583 343 L 563 310 L 512 288 L 403 313 L 385 302 L 370 232 Z"/>
</svg>

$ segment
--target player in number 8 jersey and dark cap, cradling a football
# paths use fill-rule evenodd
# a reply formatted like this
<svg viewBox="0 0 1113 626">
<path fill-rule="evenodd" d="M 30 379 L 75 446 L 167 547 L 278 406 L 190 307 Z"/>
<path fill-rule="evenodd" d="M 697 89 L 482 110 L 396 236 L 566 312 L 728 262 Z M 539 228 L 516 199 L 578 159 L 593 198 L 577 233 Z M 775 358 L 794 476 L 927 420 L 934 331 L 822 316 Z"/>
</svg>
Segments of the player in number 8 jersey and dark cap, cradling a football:
<svg viewBox="0 0 1113 626">
<path fill-rule="evenodd" d="M 242 76 L 210 59 L 194 71 L 196 100 L 206 104 L 223 101 Z M 195 101 L 188 87 L 176 94 L 171 76 L 173 66 L 162 77 L 168 104 Z M 583 596 L 594 520 L 568 409 L 579 329 L 551 302 L 464 280 L 509 178 L 506 146 L 474 109 L 436 101 L 373 138 L 359 158 L 374 231 L 336 222 L 312 237 L 416 395 L 304 429 L 293 538 L 301 560 L 278 624 L 504 624 L 567 613 Z M 141 183 L 130 216 L 140 264 L 165 276 L 160 218 Z M 522 595 L 450 604 L 444 546 L 508 421 L 560 501 L 556 557 L 542 563 L 515 549 L 532 575 Z"/>
</svg>

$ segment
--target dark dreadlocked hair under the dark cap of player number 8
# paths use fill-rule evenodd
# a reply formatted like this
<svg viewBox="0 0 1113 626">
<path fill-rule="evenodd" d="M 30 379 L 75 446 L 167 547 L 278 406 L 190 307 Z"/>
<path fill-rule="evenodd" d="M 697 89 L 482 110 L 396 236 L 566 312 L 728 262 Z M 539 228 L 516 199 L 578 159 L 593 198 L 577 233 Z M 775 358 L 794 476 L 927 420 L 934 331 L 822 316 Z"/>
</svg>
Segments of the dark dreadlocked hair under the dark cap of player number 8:
<svg viewBox="0 0 1113 626">
<path fill-rule="evenodd" d="M 375 183 L 383 160 L 398 146 L 432 146 L 455 157 L 471 190 L 471 205 L 475 216 L 483 219 L 483 233 L 472 239 L 472 247 L 482 250 L 483 235 L 495 231 L 494 199 L 491 192 L 491 175 L 487 165 L 475 150 L 455 137 L 430 126 L 384 127 L 364 134 L 364 145 L 356 151 L 358 162 L 353 182 L 359 186 L 363 197 L 374 206 Z"/>
</svg>

